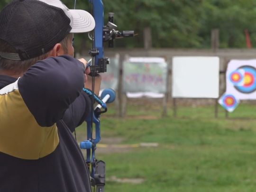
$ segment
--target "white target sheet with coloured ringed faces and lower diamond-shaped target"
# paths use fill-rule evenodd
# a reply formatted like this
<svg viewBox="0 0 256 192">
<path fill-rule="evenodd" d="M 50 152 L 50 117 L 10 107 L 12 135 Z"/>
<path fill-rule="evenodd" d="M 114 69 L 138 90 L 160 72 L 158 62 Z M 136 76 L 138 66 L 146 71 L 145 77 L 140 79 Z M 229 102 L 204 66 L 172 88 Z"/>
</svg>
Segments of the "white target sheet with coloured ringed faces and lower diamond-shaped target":
<svg viewBox="0 0 256 192">
<path fill-rule="evenodd" d="M 229 107 L 223 102 L 225 95 L 234 100 L 234 106 Z M 256 59 L 231 60 L 226 72 L 226 92 L 219 99 L 219 104 L 232 112 L 238 106 L 239 100 L 256 99 Z M 231 100 L 229 100 L 232 103 Z"/>
</svg>

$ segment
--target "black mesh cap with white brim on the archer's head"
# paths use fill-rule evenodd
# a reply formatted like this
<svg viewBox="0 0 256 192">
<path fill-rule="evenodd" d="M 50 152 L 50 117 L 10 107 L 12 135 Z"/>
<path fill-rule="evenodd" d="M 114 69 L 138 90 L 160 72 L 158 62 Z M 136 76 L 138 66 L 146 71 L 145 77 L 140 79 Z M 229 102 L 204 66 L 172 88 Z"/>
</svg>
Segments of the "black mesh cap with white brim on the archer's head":
<svg viewBox="0 0 256 192">
<path fill-rule="evenodd" d="M 60 0 L 14 0 L 0 12 L 0 39 L 17 53 L 0 57 L 27 60 L 40 56 L 68 33 L 93 30 L 95 21 L 84 10 L 68 9 Z"/>
</svg>

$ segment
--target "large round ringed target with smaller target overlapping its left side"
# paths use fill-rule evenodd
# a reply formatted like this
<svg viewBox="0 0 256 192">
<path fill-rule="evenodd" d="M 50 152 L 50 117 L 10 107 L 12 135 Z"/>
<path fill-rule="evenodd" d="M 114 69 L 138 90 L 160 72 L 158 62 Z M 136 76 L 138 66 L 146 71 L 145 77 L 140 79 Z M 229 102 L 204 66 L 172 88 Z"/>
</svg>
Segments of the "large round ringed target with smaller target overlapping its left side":
<svg viewBox="0 0 256 192">
<path fill-rule="evenodd" d="M 256 68 L 251 66 L 239 67 L 229 75 L 229 80 L 238 92 L 254 92 L 256 91 Z"/>
</svg>

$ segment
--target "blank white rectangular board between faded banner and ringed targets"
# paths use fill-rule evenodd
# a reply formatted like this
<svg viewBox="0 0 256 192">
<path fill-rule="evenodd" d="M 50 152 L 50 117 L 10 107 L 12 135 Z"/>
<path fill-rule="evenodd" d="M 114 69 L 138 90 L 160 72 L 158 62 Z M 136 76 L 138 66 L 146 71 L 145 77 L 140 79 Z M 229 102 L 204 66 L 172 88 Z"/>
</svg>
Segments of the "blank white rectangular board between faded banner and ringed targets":
<svg viewBox="0 0 256 192">
<path fill-rule="evenodd" d="M 173 98 L 219 98 L 218 57 L 174 57 Z"/>
</svg>

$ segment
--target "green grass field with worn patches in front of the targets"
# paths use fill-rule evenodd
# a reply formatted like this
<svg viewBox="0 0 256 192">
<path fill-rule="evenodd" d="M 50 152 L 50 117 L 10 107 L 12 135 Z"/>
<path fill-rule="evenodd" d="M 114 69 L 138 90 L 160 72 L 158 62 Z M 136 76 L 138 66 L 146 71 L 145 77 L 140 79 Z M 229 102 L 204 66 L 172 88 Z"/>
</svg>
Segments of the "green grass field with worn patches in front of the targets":
<svg viewBox="0 0 256 192">
<path fill-rule="evenodd" d="M 128 105 L 125 118 L 114 112 L 110 106 L 101 117 L 102 138 L 159 145 L 105 153 L 97 149 L 97 158 L 107 164 L 105 192 L 256 191 L 256 106 L 240 104 L 228 119 L 221 107 L 215 118 L 214 106 L 179 107 L 176 118 L 171 109 L 162 118 L 160 108 L 140 105 Z M 112 177 L 143 182 L 120 183 Z"/>
</svg>

